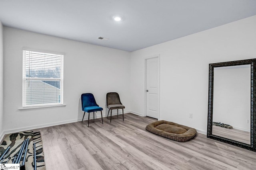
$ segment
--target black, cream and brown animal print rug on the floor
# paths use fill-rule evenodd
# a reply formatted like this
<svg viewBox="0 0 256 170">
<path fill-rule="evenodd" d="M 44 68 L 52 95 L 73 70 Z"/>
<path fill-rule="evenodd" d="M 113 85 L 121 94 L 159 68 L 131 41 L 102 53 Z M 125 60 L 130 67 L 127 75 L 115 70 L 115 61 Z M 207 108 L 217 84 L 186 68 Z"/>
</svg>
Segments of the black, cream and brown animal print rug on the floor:
<svg viewBox="0 0 256 170">
<path fill-rule="evenodd" d="M 24 131 L 19 133 L 11 133 L 5 135 L 2 145 L 0 145 L 0 155 L 4 153 L 7 147 L 10 147 L 10 152 L 4 159 L 2 163 L 9 163 L 11 164 L 14 160 L 15 155 L 18 155 L 22 143 L 25 139 L 29 138 L 28 142 L 28 152 L 26 154 L 26 161 L 25 167 L 26 170 L 33 170 L 34 163 L 33 163 L 33 143 L 36 143 L 36 169 L 37 170 L 45 170 L 45 162 L 44 162 L 44 152 L 42 147 L 42 138 L 40 132 L 33 132 L 33 131 Z M 10 158 L 10 159 L 9 159 Z M 9 161 L 7 162 L 7 160 Z M 23 161 L 23 157 L 20 160 Z"/>
</svg>

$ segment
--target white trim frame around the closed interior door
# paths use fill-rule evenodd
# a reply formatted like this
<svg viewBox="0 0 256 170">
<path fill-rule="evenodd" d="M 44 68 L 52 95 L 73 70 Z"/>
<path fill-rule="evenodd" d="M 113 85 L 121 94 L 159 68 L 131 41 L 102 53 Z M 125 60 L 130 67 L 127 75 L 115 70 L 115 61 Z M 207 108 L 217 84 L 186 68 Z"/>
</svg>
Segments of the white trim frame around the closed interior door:
<svg viewBox="0 0 256 170">
<path fill-rule="evenodd" d="M 148 56 L 148 57 L 144 57 L 144 117 L 147 116 L 147 92 L 146 92 L 146 88 L 147 88 L 147 60 L 148 59 L 154 59 L 157 58 L 158 59 L 158 120 L 160 118 L 160 54 L 158 55 L 152 55 L 152 56 Z"/>
</svg>

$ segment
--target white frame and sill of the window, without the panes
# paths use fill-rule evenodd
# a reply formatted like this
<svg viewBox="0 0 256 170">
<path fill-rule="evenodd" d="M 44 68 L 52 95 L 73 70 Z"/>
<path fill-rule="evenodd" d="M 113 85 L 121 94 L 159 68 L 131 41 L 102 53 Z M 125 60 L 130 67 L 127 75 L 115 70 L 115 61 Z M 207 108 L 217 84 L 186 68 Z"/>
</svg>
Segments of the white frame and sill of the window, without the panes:
<svg viewBox="0 0 256 170">
<path fill-rule="evenodd" d="M 26 51 L 35 52 L 35 53 L 47 53 L 52 55 L 60 55 L 60 78 L 38 78 L 38 77 L 27 77 L 26 76 Z M 32 105 L 26 105 L 26 80 L 42 80 L 42 81 L 60 81 L 60 103 L 50 103 L 50 104 L 32 104 Z M 42 50 L 36 50 L 36 49 L 22 49 L 22 109 L 29 109 L 29 108 L 41 108 L 41 107 L 47 107 L 51 108 L 54 106 L 60 107 L 60 106 L 66 106 L 64 105 L 64 89 L 63 89 L 63 80 L 64 80 L 64 53 L 58 53 L 58 52 L 52 52 L 52 51 L 42 51 Z M 59 101 L 59 96 L 58 96 Z"/>
</svg>

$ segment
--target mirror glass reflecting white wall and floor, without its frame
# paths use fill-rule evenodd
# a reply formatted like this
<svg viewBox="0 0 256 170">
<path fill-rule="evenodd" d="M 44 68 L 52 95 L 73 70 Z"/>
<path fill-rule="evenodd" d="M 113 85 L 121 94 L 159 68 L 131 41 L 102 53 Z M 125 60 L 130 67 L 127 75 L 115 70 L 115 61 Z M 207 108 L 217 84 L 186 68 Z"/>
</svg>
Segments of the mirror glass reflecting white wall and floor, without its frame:
<svg viewBox="0 0 256 170">
<path fill-rule="evenodd" d="M 250 143 L 251 65 L 214 68 L 212 135 Z"/>
</svg>

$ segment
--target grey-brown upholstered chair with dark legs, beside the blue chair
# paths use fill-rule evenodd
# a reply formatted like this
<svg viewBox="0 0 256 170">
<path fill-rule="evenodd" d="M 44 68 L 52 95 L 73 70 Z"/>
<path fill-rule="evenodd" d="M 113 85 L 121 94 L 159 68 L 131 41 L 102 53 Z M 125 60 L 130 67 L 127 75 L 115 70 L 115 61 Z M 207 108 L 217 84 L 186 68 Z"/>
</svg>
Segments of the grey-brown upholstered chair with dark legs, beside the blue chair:
<svg viewBox="0 0 256 170">
<path fill-rule="evenodd" d="M 108 107 L 108 114 L 109 114 L 109 111 L 110 111 L 110 123 L 111 123 L 112 110 L 113 109 L 117 109 L 117 117 L 118 117 L 118 109 L 122 109 L 122 111 L 123 111 L 123 121 L 124 121 L 124 108 L 125 108 L 125 106 L 122 105 L 118 93 L 116 93 L 116 92 L 107 93 L 107 107 Z M 107 116 L 107 118 L 108 118 L 108 116 Z"/>
</svg>

